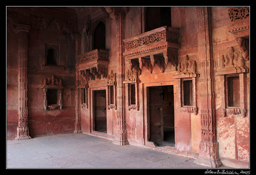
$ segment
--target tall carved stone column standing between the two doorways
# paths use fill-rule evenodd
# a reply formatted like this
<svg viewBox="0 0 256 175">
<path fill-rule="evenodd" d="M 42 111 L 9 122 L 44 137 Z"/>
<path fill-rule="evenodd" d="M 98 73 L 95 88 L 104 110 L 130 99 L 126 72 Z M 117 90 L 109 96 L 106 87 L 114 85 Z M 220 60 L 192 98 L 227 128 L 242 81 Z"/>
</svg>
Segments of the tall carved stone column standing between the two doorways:
<svg viewBox="0 0 256 175">
<path fill-rule="evenodd" d="M 114 9 L 115 15 L 115 22 L 116 22 L 116 40 L 117 40 L 117 57 L 118 57 L 118 70 L 117 70 L 117 112 L 116 112 L 116 119 L 117 119 L 117 133 L 115 136 L 115 140 L 113 141 L 114 144 L 119 145 L 126 145 L 128 144 L 127 140 L 127 129 L 126 129 L 126 119 L 125 119 L 125 90 L 124 90 L 124 19 L 125 19 L 125 12 L 122 8 L 115 8 Z"/>
</svg>

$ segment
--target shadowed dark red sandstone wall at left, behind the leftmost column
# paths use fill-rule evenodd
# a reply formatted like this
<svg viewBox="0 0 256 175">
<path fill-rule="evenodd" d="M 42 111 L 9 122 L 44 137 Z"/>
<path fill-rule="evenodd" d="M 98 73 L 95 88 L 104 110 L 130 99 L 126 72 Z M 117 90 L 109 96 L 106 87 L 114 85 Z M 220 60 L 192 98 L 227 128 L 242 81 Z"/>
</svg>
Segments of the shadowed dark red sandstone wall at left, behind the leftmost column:
<svg viewBox="0 0 256 175">
<path fill-rule="evenodd" d="M 34 9 L 35 10 L 35 9 Z M 69 13 L 69 16 L 66 15 Z M 42 20 L 42 21 L 40 21 Z M 18 102 L 18 34 L 17 23 L 30 26 L 27 42 L 27 107 L 29 135 L 70 132 L 75 122 L 75 41 L 71 33 L 76 33 L 77 17 L 75 13 L 57 9 L 8 8 L 7 31 L 7 136 L 14 138 L 17 131 Z M 58 65 L 61 71 L 41 69 L 45 64 L 45 46 L 59 45 Z M 55 75 L 63 81 L 63 108 L 44 110 L 42 80 Z"/>
</svg>

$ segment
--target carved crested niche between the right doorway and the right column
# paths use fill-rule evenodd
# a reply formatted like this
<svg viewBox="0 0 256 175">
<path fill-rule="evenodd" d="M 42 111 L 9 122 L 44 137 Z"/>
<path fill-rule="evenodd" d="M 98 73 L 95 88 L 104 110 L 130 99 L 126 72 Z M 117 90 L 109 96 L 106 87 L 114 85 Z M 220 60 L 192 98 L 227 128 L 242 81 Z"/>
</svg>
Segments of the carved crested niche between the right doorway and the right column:
<svg viewBox="0 0 256 175">
<path fill-rule="evenodd" d="M 179 107 L 180 112 L 194 113 L 197 115 L 196 61 L 186 55 L 183 62 L 178 64 L 174 78 L 178 79 Z"/>
</svg>

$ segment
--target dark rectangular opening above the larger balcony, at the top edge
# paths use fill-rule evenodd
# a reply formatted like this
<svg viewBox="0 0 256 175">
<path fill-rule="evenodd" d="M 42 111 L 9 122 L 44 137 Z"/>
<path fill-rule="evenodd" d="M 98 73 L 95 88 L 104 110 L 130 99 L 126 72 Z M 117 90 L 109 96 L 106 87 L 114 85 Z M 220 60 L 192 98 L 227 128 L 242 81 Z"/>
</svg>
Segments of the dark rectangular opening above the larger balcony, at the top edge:
<svg viewBox="0 0 256 175">
<path fill-rule="evenodd" d="M 171 7 L 145 8 L 145 32 L 162 26 L 172 27 Z"/>
</svg>

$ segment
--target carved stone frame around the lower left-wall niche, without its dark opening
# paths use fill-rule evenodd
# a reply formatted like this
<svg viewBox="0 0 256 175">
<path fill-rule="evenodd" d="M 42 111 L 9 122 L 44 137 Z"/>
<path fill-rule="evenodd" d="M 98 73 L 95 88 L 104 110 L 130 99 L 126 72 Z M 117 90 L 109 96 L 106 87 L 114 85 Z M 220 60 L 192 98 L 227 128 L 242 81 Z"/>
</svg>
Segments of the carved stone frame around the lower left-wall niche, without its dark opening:
<svg viewBox="0 0 256 175">
<path fill-rule="evenodd" d="M 57 79 L 52 75 L 51 78 L 43 79 L 41 88 L 44 91 L 44 110 L 47 109 L 62 109 L 62 91 L 63 91 L 63 82 L 61 79 Z M 55 89 L 57 90 L 57 104 L 48 105 L 47 101 L 47 90 Z"/>
</svg>

